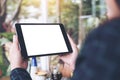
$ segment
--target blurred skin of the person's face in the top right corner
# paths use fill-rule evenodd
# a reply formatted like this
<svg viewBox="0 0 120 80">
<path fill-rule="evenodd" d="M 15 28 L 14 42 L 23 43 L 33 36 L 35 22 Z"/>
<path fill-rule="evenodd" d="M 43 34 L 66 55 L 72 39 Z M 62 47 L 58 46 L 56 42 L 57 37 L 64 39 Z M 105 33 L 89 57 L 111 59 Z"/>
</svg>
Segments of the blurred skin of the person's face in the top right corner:
<svg viewBox="0 0 120 80">
<path fill-rule="evenodd" d="M 120 17 L 120 8 L 116 0 L 106 0 L 108 19 Z"/>
</svg>

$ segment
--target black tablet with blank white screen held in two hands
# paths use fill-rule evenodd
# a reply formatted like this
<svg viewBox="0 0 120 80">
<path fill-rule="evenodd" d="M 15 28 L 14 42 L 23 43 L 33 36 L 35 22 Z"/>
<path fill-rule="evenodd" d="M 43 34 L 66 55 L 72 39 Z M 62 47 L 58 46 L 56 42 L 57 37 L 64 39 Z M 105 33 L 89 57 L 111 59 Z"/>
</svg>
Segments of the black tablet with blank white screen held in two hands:
<svg viewBox="0 0 120 80">
<path fill-rule="evenodd" d="M 71 53 L 72 48 L 63 24 L 15 24 L 24 58 Z"/>
</svg>

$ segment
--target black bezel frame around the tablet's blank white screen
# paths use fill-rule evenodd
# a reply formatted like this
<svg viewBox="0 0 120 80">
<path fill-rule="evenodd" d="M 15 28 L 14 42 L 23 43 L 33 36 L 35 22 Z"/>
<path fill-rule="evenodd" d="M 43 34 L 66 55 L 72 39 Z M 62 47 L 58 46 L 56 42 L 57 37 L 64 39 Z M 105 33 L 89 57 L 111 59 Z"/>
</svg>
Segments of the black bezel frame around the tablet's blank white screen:
<svg viewBox="0 0 120 80">
<path fill-rule="evenodd" d="M 46 54 L 41 53 L 40 55 L 28 56 L 25 41 L 24 41 L 23 34 L 22 34 L 21 25 L 60 25 L 60 29 L 62 31 L 62 35 L 64 37 L 68 52 L 46 53 Z M 16 28 L 16 33 L 18 36 L 18 42 L 20 44 L 21 55 L 24 58 L 37 57 L 37 56 L 49 56 L 49 55 L 57 55 L 57 54 L 61 55 L 61 54 L 66 54 L 66 53 L 72 53 L 73 51 L 70 41 L 68 39 L 67 33 L 65 31 L 64 25 L 61 23 L 16 23 L 15 28 Z"/>
</svg>

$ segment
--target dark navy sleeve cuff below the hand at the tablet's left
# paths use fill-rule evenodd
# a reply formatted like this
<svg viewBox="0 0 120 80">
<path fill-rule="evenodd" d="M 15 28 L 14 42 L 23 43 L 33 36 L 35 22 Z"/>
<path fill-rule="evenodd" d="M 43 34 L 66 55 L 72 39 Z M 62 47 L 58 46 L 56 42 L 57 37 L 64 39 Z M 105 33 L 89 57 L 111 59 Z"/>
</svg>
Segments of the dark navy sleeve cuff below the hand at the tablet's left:
<svg viewBox="0 0 120 80">
<path fill-rule="evenodd" d="M 10 74 L 11 80 L 32 80 L 29 73 L 22 68 L 16 68 L 11 71 Z"/>
</svg>

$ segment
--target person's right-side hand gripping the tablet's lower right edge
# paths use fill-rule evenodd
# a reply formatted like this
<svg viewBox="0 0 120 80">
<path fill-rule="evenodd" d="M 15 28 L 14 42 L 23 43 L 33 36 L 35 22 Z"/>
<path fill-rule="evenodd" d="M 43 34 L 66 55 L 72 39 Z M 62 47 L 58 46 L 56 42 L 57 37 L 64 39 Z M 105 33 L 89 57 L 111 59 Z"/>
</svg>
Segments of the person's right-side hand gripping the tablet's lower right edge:
<svg viewBox="0 0 120 80">
<path fill-rule="evenodd" d="M 60 59 L 64 62 L 63 66 L 62 66 L 62 69 L 61 69 L 61 73 L 65 77 L 70 77 L 71 76 L 71 72 L 74 71 L 76 59 L 77 59 L 77 56 L 78 56 L 77 45 L 70 38 L 69 35 L 68 35 L 68 38 L 70 40 L 73 52 L 70 53 L 70 54 L 66 54 L 66 55 L 60 56 Z"/>
</svg>

